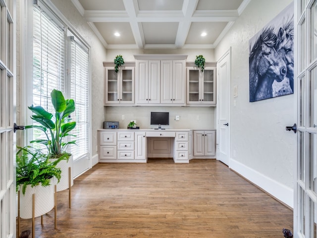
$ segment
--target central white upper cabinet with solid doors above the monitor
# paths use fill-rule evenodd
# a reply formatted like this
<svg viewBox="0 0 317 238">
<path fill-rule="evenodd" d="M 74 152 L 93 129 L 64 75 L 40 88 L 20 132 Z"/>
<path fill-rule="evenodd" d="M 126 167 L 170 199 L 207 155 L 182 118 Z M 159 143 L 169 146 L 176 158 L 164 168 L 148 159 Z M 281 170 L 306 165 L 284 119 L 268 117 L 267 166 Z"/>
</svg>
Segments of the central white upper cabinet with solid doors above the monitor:
<svg viewBox="0 0 317 238">
<path fill-rule="evenodd" d="M 185 55 L 137 55 L 135 104 L 185 106 Z"/>
</svg>

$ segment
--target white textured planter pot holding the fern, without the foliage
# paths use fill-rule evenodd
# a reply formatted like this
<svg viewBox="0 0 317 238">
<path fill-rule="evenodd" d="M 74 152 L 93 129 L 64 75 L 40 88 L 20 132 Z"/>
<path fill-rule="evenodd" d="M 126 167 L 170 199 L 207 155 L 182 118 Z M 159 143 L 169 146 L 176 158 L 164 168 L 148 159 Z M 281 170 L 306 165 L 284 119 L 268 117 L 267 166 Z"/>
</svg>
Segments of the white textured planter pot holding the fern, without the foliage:
<svg viewBox="0 0 317 238">
<path fill-rule="evenodd" d="M 54 182 L 50 186 L 43 187 L 41 184 L 35 187 L 28 185 L 25 194 L 20 185 L 20 218 L 32 218 L 32 195 L 35 194 L 35 216 L 42 216 L 54 208 Z"/>
</svg>

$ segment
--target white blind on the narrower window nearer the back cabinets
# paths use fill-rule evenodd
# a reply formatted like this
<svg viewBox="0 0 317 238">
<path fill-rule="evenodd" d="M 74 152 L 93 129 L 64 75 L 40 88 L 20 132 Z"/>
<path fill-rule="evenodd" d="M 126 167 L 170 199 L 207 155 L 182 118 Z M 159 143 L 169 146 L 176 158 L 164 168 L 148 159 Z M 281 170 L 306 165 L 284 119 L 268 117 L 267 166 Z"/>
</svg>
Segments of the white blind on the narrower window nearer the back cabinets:
<svg viewBox="0 0 317 238">
<path fill-rule="evenodd" d="M 70 45 L 70 98 L 75 101 L 76 127 L 71 134 L 76 135 L 76 145 L 71 145 L 74 160 L 89 153 L 89 51 L 76 39 L 69 38 Z"/>
</svg>

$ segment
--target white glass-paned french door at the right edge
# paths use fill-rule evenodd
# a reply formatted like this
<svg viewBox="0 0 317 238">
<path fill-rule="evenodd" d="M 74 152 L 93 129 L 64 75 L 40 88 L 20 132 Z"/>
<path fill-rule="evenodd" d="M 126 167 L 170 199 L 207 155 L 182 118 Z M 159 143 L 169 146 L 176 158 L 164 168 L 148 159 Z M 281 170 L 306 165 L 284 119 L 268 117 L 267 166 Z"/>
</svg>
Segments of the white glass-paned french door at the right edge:
<svg viewBox="0 0 317 238">
<path fill-rule="evenodd" d="M 294 237 L 317 238 L 317 0 L 295 0 L 298 137 Z"/>
</svg>

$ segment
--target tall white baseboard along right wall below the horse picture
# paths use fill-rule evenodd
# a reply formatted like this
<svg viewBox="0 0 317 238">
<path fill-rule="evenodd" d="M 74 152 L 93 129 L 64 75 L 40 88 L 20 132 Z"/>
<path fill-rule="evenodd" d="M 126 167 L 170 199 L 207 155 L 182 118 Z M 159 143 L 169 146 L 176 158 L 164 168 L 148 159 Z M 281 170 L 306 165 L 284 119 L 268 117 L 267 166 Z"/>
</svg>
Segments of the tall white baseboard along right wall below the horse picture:
<svg viewBox="0 0 317 238">
<path fill-rule="evenodd" d="M 230 159 L 230 169 L 264 190 L 289 208 L 294 208 L 294 190 L 244 164 Z"/>
</svg>

